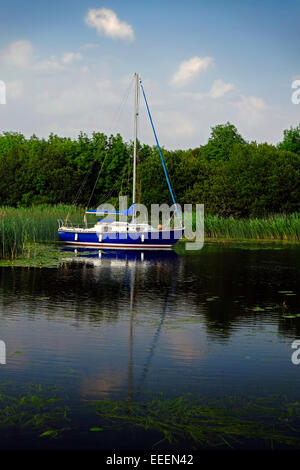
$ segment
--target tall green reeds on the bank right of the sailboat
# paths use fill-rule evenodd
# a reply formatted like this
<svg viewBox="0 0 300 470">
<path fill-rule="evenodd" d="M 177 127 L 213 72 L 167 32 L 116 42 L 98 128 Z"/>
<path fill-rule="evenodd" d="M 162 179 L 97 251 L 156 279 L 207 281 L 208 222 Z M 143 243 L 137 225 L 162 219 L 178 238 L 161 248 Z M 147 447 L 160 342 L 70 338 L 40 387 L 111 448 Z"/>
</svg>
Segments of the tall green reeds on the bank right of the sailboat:
<svg viewBox="0 0 300 470">
<path fill-rule="evenodd" d="M 195 220 L 194 220 L 195 221 Z M 300 240 L 300 213 L 270 215 L 262 218 L 236 219 L 206 214 L 206 237 Z"/>
</svg>

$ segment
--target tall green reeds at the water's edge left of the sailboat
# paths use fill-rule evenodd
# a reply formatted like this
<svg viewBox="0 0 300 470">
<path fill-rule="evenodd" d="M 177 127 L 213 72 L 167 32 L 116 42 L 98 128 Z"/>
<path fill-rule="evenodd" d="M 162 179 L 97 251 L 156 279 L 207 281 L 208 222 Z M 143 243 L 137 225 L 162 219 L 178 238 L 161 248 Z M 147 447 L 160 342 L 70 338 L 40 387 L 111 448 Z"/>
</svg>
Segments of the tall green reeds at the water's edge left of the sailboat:
<svg viewBox="0 0 300 470">
<path fill-rule="evenodd" d="M 73 223 L 82 222 L 84 211 L 75 206 L 0 207 L 0 258 L 22 257 L 30 243 L 57 240 L 58 219 L 68 213 Z"/>
</svg>

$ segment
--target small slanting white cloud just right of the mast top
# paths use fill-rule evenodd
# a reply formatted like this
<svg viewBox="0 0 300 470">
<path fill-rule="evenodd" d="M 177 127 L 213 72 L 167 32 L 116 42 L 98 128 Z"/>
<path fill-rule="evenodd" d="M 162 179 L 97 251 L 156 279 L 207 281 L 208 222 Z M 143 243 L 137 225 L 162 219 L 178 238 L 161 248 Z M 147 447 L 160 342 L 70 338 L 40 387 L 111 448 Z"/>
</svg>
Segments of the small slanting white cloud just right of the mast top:
<svg viewBox="0 0 300 470">
<path fill-rule="evenodd" d="M 199 73 L 204 72 L 212 65 L 212 57 L 192 57 L 181 62 L 177 72 L 171 78 L 171 84 L 175 87 L 182 87 L 193 80 Z"/>
</svg>

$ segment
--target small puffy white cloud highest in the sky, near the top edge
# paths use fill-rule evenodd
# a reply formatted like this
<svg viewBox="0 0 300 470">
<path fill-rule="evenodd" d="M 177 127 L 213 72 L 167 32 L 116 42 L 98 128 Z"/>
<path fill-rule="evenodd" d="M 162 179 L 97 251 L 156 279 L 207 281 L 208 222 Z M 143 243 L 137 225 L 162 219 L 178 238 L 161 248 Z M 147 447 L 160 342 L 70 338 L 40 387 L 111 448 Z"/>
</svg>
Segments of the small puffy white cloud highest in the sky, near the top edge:
<svg viewBox="0 0 300 470">
<path fill-rule="evenodd" d="M 99 34 L 104 34 L 113 39 L 134 40 L 132 26 L 125 21 L 120 21 L 116 13 L 107 8 L 90 8 L 85 17 L 85 22 L 91 28 L 96 28 Z"/>
</svg>

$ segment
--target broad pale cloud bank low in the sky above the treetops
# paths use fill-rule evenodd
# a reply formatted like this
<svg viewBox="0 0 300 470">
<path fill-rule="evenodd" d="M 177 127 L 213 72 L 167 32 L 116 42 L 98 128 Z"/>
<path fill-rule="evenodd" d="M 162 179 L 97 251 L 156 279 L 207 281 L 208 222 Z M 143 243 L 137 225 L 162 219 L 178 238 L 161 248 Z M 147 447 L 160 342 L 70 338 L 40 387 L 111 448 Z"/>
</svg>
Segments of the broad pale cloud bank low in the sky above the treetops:
<svg viewBox="0 0 300 470">
<path fill-rule="evenodd" d="M 124 102 L 131 76 L 112 73 L 111 63 L 104 59 L 91 64 L 81 61 L 78 54 L 84 55 L 85 48 L 71 52 L 62 49 L 55 56 L 37 59 L 30 42 L 12 44 L 0 51 L 1 59 L 5 56 L 6 60 L 3 60 L 1 78 L 7 77 L 7 106 L 1 109 L 5 113 L 2 130 L 44 137 L 50 132 L 75 137 L 80 131 L 96 130 L 106 134 L 120 132 L 125 140 L 132 139 L 133 91 L 122 113 L 117 111 Z M 22 49 L 24 57 L 20 58 Z M 203 62 L 204 59 L 201 59 L 201 66 L 195 67 L 196 71 L 181 74 L 177 83 L 188 83 L 195 74 L 207 69 L 213 59 Z M 6 63 L 9 64 L 7 70 Z M 12 64 L 16 67 L 15 76 L 11 73 Z M 243 94 L 220 78 L 212 80 L 206 90 L 199 88 L 197 93 L 187 93 L 184 88 L 170 91 L 166 83 L 147 77 L 144 77 L 144 85 L 147 94 L 149 92 L 160 143 L 165 148 L 193 148 L 204 144 L 210 127 L 227 121 L 235 124 L 246 139 L 278 142 L 282 129 L 298 122 L 299 106 L 288 102 L 285 108 L 278 108 L 279 114 L 274 104 L 267 105 L 259 95 Z M 144 108 L 141 103 L 139 138 L 152 145 L 155 142 Z"/>
</svg>

